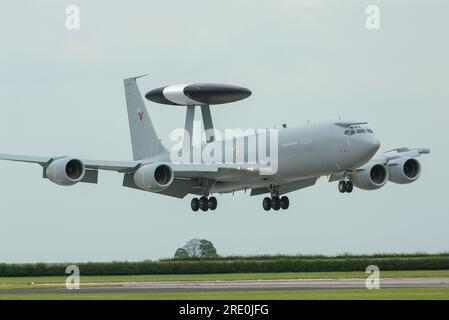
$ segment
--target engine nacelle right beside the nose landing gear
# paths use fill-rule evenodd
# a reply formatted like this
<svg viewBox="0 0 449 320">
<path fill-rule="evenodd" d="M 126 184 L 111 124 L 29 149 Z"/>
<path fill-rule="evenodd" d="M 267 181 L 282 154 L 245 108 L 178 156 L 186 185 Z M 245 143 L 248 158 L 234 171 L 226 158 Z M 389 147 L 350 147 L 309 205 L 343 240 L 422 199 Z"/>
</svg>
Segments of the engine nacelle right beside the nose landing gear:
<svg viewBox="0 0 449 320">
<path fill-rule="evenodd" d="M 376 190 L 388 180 L 388 170 L 382 163 L 367 163 L 352 175 L 354 186 L 364 190 Z"/>
</svg>

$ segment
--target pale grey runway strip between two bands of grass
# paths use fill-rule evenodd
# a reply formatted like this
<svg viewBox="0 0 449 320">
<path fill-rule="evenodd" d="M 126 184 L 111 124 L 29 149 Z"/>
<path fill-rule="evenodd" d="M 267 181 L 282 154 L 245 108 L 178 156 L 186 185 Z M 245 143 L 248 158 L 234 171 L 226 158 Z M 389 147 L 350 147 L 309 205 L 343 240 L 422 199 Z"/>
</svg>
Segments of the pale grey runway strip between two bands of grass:
<svg viewBox="0 0 449 320">
<path fill-rule="evenodd" d="M 95 285 L 95 287 L 84 287 Z M 230 281 L 161 281 L 82 283 L 81 288 L 2 289 L 1 294 L 88 294 L 88 293 L 148 293 L 148 292 L 224 292 L 224 291 L 282 291 L 282 290 L 344 290 L 365 289 L 365 279 L 288 279 L 288 280 L 230 280 Z M 449 278 L 381 279 L 380 288 L 448 288 Z"/>
</svg>

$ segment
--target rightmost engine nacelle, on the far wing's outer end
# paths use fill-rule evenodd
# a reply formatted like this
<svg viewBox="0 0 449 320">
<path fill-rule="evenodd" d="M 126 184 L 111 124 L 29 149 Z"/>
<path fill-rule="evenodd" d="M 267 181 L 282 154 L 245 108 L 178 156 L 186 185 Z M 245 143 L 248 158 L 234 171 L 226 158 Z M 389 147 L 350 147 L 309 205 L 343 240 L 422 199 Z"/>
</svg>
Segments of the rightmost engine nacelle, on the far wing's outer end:
<svg viewBox="0 0 449 320">
<path fill-rule="evenodd" d="M 399 158 L 388 162 L 388 173 L 391 182 L 412 183 L 421 175 L 421 164 L 413 158 Z"/>
</svg>

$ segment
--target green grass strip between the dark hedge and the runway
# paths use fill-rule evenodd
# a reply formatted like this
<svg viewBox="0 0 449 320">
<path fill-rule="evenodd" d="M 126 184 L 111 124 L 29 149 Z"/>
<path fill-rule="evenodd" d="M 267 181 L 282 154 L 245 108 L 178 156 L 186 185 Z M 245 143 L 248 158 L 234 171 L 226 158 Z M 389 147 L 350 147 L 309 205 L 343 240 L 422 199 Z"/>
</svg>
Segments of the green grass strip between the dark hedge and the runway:
<svg viewBox="0 0 449 320">
<path fill-rule="evenodd" d="M 83 276 L 81 283 L 142 282 L 142 281 L 190 281 L 190 280 L 265 280 L 265 279 L 333 279 L 366 278 L 365 272 L 285 272 L 285 273 L 225 273 L 136 276 Z M 449 277 L 449 270 L 382 271 L 382 278 Z M 32 287 L 34 284 L 65 283 L 65 277 L 0 277 L 0 290 L 11 285 Z"/>
</svg>

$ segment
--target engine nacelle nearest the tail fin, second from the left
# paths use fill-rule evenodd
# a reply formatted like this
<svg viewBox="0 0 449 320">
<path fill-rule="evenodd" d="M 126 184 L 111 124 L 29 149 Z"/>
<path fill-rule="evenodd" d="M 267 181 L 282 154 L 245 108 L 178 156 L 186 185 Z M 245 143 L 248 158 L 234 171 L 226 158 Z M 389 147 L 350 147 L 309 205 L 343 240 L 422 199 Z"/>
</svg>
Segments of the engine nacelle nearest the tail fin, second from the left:
<svg viewBox="0 0 449 320">
<path fill-rule="evenodd" d="M 170 186 L 173 182 L 173 170 L 166 164 L 146 164 L 134 173 L 136 185 L 147 191 L 158 192 Z"/>
</svg>

